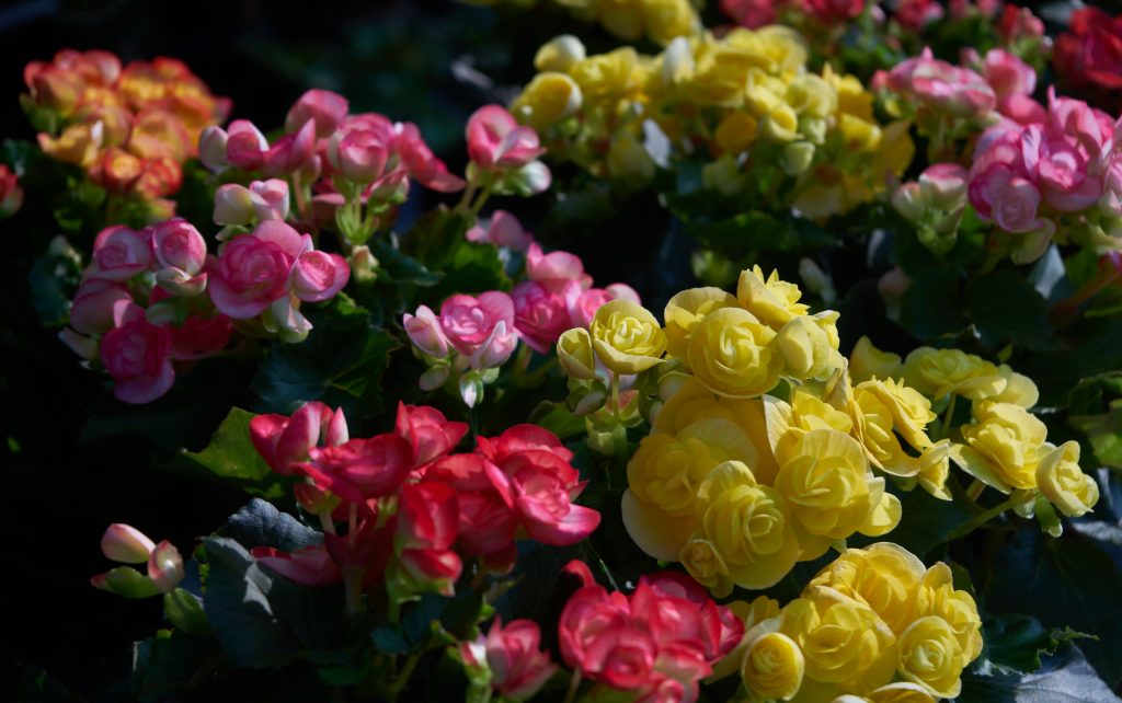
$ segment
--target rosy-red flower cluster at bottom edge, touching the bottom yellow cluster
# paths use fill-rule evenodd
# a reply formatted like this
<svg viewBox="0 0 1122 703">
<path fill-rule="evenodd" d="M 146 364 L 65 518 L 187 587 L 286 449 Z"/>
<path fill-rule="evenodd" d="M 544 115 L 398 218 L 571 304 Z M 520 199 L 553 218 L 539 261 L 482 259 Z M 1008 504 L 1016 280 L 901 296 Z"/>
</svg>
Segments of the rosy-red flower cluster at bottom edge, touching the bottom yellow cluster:
<svg viewBox="0 0 1122 703">
<path fill-rule="evenodd" d="M 558 623 L 561 656 L 581 676 L 631 692 L 641 702 L 698 699 L 698 682 L 744 636 L 744 623 L 684 574 L 644 575 L 629 595 L 608 593 L 588 567 Z"/>
</svg>

